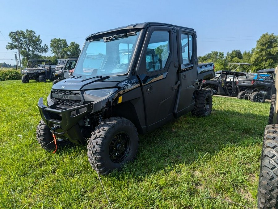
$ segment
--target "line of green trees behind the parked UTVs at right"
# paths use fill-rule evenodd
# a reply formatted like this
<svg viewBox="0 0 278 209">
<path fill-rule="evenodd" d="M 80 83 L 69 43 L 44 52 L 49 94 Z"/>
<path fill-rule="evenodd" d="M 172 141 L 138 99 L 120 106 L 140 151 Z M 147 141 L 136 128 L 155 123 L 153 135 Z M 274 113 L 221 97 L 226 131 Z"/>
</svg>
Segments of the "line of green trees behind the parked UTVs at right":
<svg viewBox="0 0 278 209">
<path fill-rule="evenodd" d="M 256 47 L 251 51 L 235 49 L 227 52 L 212 51 L 204 56 L 198 57 L 199 62 L 213 62 L 215 70 L 230 70 L 229 63 L 250 63 L 248 71 L 257 72 L 261 69 L 275 68 L 278 64 L 278 35 L 265 33 L 256 43 Z M 247 66 L 240 66 L 237 71 L 246 72 Z"/>
</svg>

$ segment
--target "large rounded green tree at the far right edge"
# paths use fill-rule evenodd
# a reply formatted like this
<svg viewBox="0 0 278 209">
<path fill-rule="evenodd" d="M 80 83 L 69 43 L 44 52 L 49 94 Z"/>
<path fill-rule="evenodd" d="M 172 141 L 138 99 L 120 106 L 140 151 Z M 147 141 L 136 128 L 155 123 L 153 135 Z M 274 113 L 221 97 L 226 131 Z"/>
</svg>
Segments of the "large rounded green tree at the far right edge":
<svg viewBox="0 0 278 209">
<path fill-rule="evenodd" d="M 251 57 L 252 71 L 274 68 L 278 64 L 278 36 L 263 34 L 258 40 Z"/>
</svg>

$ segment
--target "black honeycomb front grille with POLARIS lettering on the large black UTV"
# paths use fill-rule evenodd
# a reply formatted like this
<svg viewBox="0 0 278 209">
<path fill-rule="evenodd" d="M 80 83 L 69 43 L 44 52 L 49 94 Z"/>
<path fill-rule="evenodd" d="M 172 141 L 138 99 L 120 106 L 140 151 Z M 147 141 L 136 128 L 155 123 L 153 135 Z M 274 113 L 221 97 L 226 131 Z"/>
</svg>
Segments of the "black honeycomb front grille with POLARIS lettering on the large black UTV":
<svg viewBox="0 0 278 209">
<path fill-rule="evenodd" d="M 81 103 L 82 101 L 80 92 L 54 89 L 52 95 L 53 95 L 53 99 L 57 101 L 57 105 L 74 106 L 78 103 Z M 65 97 L 65 98 L 61 98 L 61 97 Z"/>
</svg>

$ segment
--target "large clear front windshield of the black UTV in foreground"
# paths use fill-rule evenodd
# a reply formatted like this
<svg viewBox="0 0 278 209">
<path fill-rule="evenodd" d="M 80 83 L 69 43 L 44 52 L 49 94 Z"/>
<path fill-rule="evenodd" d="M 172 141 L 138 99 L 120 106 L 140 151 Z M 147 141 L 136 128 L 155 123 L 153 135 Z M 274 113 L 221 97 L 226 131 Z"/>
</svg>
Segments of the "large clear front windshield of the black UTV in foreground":
<svg viewBox="0 0 278 209">
<path fill-rule="evenodd" d="M 104 35 L 86 41 L 73 76 L 90 78 L 128 72 L 140 31 Z"/>
</svg>

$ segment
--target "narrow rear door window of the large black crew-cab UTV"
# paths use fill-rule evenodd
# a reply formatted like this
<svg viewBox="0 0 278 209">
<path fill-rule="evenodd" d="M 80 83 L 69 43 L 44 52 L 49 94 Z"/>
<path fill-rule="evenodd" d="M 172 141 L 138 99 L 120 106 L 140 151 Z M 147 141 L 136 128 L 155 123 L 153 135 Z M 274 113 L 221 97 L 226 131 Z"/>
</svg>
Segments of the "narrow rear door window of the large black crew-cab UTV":
<svg viewBox="0 0 278 209">
<path fill-rule="evenodd" d="M 183 55 L 183 64 L 191 63 L 192 61 L 192 35 L 182 34 L 181 35 L 181 46 Z"/>
</svg>

